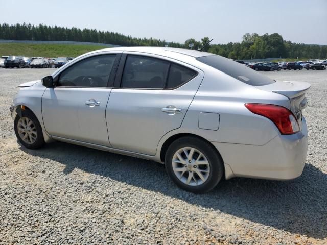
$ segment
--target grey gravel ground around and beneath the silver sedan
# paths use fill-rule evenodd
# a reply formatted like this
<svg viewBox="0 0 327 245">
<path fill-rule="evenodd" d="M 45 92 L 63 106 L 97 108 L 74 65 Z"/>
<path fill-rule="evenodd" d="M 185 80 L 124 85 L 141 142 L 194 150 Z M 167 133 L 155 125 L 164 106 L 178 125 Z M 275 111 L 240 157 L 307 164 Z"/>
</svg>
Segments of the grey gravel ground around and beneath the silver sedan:
<svg viewBox="0 0 327 245">
<path fill-rule="evenodd" d="M 309 150 L 292 181 L 235 178 L 195 195 L 160 164 L 55 142 L 19 145 L 18 84 L 54 69 L 0 69 L 0 244 L 326 244 L 327 71 L 264 72 L 308 81 Z"/>
</svg>

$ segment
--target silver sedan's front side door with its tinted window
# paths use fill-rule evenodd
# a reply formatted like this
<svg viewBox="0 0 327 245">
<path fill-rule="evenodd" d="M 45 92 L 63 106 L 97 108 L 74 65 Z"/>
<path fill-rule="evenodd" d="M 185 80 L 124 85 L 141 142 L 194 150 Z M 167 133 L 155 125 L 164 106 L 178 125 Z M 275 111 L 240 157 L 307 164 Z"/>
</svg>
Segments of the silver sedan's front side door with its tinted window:
<svg viewBox="0 0 327 245">
<path fill-rule="evenodd" d="M 44 127 L 50 135 L 110 146 L 105 111 L 115 59 L 116 54 L 88 57 L 55 78 L 57 87 L 47 88 L 42 97 Z"/>
</svg>

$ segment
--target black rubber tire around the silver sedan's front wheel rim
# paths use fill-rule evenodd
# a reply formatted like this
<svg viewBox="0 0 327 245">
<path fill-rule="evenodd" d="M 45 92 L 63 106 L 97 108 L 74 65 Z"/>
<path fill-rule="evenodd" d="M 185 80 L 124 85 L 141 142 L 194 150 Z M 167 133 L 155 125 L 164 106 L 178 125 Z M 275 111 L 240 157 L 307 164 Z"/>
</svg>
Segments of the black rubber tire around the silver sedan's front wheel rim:
<svg viewBox="0 0 327 245">
<path fill-rule="evenodd" d="M 17 139 L 19 140 L 19 142 L 24 145 L 26 148 L 28 149 L 37 149 L 37 148 L 41 148 L 44 145 L 44 138 L 43 138 L 43 133 L 42 133 L 42 127 L 40 125 L 40 122 L 38 121 L 38 119 L 36 118 L 36 116 L 30 111 L 30 110 L 24 110 L 22 111 L 22 116 L 24 117 L 28 117 L 29 119 L 31 119 L 33 121 L 33 124 L 36 128 L 36 140 L 34 143 L 29 144 L 26 143 L 24 140 L 22 140 L 19 136 L 18 130 L 17 130 L 17 124 L 18 124 L 18 120 L 20 119 L 20 116 L 17 114 L 14 120 L 14 130 L 15 130 L 15 134 Z"/>
</svg>

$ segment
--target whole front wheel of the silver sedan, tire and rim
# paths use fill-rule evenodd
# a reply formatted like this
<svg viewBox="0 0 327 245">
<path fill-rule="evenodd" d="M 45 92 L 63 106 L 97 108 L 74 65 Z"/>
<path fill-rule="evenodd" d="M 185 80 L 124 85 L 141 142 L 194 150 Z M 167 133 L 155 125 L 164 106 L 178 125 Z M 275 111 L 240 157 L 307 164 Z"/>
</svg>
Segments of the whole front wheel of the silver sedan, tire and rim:
<svg viewBox="0 0 327 245">
<path fill-rule="evenodd" d="M 37 149 L 43 146 L 44 138 L 41 125 L 31 111 L 22 111 L 22 117 L 16 115 L 14 130 L 19 142 L 26 148 Z"/>
</svg>

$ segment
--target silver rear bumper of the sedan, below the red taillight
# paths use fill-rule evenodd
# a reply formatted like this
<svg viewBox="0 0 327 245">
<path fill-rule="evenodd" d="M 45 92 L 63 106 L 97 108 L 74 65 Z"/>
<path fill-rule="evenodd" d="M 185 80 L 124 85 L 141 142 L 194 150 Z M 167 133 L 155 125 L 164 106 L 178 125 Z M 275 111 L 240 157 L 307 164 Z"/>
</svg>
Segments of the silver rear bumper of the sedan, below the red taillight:
<svg viewBox="0 0 327 245">
<path fill-rule="evenodd" d="M 277 135 L 264 145 L 212 142 L 220 152 L 226 179 L 248 177 L 290 180 L 299 177 L 308 150 L 307 123 L 302 117 L 302 131 L 293 135 Z"/>
</svg>

